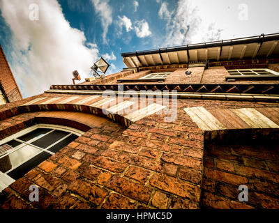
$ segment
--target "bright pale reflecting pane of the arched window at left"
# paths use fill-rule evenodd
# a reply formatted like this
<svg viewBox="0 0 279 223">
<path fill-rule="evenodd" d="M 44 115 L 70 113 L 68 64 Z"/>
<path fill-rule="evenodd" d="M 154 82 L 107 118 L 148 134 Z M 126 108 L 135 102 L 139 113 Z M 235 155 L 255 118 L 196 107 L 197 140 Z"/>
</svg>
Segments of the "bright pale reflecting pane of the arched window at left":
<svg viewBox="0 0 279 223">
<path fill-rule="evenodd" d="M 0 159 L 1 171 L 5 173 L 6 171 L 17 167 L 19 164 L 26 162 L 38 153 L 40 153 L 38 148 L 33 148 L 32 146 L 26 145 Z"/>
</svg>

